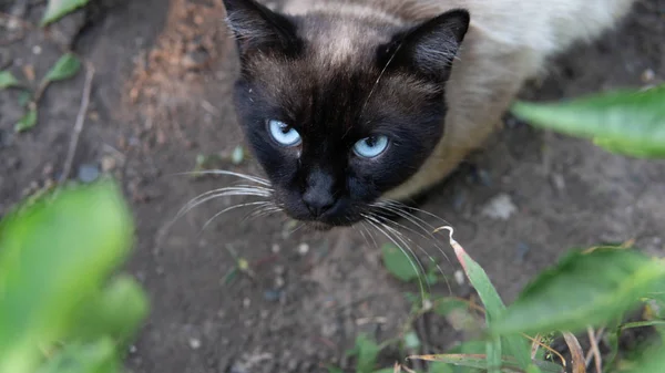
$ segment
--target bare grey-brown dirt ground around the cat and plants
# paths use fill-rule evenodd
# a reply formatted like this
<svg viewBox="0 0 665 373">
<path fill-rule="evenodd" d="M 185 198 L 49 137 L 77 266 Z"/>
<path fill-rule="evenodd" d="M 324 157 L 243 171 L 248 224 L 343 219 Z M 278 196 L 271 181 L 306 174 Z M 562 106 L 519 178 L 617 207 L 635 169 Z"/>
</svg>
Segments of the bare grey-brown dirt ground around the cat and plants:
<svg viewBox="0 0 665 373">
<path fill-rule="evenodd" d="M 91 178 L 100 169 L 116 175 L 135 213 L 137 246 L 127 270 L 147 288 L 153 310 L 131 350 L 132 372 L 349 367 L 345 352 L 356 335 L 395 335 L 409 313 L 403 294 L 418 289 L 383 269 L 377 246 L 385 238 L 365 240 L 352 229 L 310 232 L 280 215 L 245 219 L 250 208 L 222 215 L 202 231 L 221 209 L 252 201 L 239 197 L 204 204 L 168 225 L 191 198 L 237 182 L 175 175 L 192 170 L 198 155 L 221 154 L 219 167 L 259 174 L 250 159 L 227 160 L 243 138 L 229 102 L 236 65 L 219 2 L 173 0 L 170 11 L 166 0 L 101 0 L 42 32 L 32 24 L 43 1 L 4 0 L 0 66 L 21 79 L 32 68 L 39 77 L 72 48 L 94 68 L 71 177 Z M 552 70 L 524 97 L 662 82 L 665 0 L 641 1 L 622 28 L 566 53 Z M 49 87 L 37 127 L 20 135 L 13 133 L 19 93 L 0 92 L 0 215 L 62 174 L 84 81 L 81 72 Z M 456 227 L 457 239 L 510 301 L 571 247 L 636 239 L 664 256 L 664 196 L 663 162 L 610 155 L 507 118 L 505 131 L 420 207 Z M 504 218 L 488 214 L 497 200 L 515 208 Z M 444 241 L 439 251 L 431 240 L 410 237 L 450 279 L 450 288 L 432 291 L 466 296 Z M 227 280 L 232 252 L 248 260 L 252 276 Z M 422 352 L 444 351 L 462 336 L 428 317 Z"/>
</svg>

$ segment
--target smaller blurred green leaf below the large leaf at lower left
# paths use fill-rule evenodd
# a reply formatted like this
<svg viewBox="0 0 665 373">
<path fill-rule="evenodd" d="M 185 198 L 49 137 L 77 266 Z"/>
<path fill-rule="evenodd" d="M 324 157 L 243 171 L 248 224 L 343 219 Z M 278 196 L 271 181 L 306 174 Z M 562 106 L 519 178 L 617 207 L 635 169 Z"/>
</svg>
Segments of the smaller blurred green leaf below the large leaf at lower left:
<svg viewBox="0 0 665 373">
<path fill-rule="evenodd" d="M 90 341 L 104 335 L 124 349 L 135 336 L 147 310 L 147 298 L 136 281 L 126 276 L 115 278 L 76 312 L 78 322 L 71 339 Z"/>
</svg>

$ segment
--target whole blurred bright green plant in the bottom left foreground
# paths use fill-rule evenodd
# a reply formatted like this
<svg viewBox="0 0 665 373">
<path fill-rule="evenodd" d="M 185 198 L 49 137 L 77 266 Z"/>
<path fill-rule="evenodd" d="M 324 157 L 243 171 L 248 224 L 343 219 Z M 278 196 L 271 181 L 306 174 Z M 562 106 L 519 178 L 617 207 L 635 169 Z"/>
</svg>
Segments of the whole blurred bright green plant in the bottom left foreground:
<svg viewBox="0 0 665 373">
<path fill-rule="evenodd" d="M 115 274 L 134 227 L 112 182 L 55 189 L 0 221 L 0 373 L 117 373 L 147 314 Z"/>
</svg>

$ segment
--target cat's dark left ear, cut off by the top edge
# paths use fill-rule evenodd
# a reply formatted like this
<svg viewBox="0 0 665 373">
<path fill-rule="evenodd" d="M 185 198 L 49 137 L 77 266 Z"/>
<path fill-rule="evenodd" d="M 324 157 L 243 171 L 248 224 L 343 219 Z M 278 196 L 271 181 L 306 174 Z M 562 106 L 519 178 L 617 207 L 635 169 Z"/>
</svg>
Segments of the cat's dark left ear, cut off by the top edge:
<svg viewBox="0 0 665 373">
<path fill-rule="evenodd" d="M 224 7 L 241 56 L 256 51 L 294 54 L 301 48 L 296 24 L 287 17 L 255 0 L 224 0 Z"/>
</svg>

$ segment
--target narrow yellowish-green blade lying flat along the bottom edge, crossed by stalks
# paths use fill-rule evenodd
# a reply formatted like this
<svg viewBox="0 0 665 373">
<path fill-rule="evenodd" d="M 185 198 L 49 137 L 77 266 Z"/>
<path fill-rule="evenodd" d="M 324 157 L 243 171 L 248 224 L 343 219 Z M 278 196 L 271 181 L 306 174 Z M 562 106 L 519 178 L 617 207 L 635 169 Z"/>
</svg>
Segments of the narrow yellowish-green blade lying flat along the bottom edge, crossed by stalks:
<svg viewBox="0 0 665 373">
<path fill-rule="evenodd" d="M 409 356 L 411 360 L 424 360 L 430 362 L 440 362 L 446 364 L 459 365 L 459 366 L 468 366 L 479 370 L 488 370 L 488 358 L 484 354 L 440 354 L 440 355 L 420 355 L 420 356 Z M 501 371 L 502 372 L 515 372 L 515 370 L 520 370 L 520 364 L 518 361 L 512 358 L 502 358 L 501 359 Z M 548 362 L 548 361 L 534 361 L 533 365 L 540 369 L 543 373 L 563 373 L 563 366 Z M 529 369 L 529 367 L 528 367 Z M 532 369 L 533 371 L 533 369 Z"/>
</svg>

